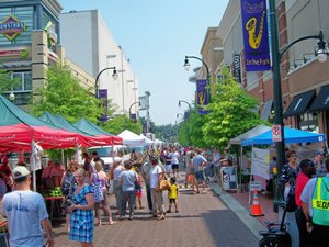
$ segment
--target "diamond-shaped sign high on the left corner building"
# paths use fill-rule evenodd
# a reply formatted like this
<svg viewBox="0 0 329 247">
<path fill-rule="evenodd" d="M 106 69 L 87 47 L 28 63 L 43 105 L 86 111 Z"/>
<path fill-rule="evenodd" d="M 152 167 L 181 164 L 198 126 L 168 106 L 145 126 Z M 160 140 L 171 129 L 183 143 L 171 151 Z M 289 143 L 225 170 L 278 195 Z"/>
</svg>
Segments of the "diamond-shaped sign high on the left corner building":
<svg viewBox="0 0 329 247">
<path fill-rule="evenodd" d="M 13 15 L 9 15 L 0 23 L 0 34 L 5 36 L 9 41 L 15 40 L 18 35 L 25 31 L 25 23 Z"/>
</svg>

